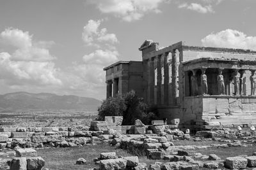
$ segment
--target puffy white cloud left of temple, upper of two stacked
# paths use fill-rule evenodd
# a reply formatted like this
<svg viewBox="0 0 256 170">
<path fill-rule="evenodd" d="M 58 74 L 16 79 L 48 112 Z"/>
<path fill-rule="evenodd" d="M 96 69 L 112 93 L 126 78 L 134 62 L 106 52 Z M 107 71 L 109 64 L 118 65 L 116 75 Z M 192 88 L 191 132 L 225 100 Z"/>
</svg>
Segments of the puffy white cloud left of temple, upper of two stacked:
<svg viewBox="0 0 256 170">
<path fill-rule="evenodd" d="M 86 45 L 95 45 L 99 47 L 98 42 L 118 43 L 115 34 L 109 34 L 106 28 L 99 29 L 102 20 L 89 20 L 83 28 L 82 39 Z"/>
</svg>

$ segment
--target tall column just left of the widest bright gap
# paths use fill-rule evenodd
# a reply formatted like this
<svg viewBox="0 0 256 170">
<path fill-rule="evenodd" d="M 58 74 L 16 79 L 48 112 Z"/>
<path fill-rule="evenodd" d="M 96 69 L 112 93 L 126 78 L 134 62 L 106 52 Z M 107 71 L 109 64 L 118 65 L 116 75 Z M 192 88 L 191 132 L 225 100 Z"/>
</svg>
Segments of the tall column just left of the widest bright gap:
<svg viewBox="0 0 256 170">
<path fill-rule="evenodd" d="M 168 55 L 164 53 L 164 104 L 169 104 L 169 66 L 168 66 Z"/>
</svg>

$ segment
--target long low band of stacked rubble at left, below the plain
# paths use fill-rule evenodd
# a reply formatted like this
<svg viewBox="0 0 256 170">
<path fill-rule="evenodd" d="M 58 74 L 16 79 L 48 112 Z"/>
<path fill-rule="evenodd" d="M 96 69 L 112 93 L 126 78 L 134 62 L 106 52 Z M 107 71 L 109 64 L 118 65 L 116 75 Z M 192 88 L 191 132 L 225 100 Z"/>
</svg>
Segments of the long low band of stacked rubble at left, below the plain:
<svg viewBox="0 0 256 170">
<path fill-rule="evenodd" d="M 87 143 L 108 142 L 113 135 L 102 131 L 89 131 L 89 127 L 28 127 L 0 128 L 0 150 L 4 148 L 73 147 Z"/>
</svg>

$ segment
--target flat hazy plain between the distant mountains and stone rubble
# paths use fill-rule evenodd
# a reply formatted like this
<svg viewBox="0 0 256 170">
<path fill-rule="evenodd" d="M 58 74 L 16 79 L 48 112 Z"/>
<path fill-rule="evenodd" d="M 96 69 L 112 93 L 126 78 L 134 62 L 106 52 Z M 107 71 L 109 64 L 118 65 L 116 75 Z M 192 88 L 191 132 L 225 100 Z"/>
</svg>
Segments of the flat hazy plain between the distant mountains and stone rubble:
<svg viewBox="0 0 256 170">
<path fill-rule="evenodd" d="M 97 111 L 46 110 L 0 113 L 0 127 L 65 127 L 90 125 Z"/>
</svg>

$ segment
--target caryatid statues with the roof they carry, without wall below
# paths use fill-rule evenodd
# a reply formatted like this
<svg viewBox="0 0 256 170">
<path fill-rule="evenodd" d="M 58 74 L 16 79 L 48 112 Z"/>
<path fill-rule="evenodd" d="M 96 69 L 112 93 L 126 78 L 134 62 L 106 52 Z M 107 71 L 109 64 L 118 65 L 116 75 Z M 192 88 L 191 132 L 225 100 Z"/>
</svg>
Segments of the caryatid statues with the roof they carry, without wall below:
<svg viewBox="0 0 256 170">
<path fill-rule="evenodd" d="M 201 58 L 182 65 L 185 96 L 255 95 L 255 60 Z"/>
</svg>

